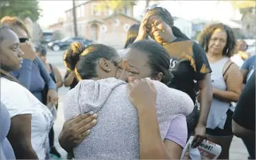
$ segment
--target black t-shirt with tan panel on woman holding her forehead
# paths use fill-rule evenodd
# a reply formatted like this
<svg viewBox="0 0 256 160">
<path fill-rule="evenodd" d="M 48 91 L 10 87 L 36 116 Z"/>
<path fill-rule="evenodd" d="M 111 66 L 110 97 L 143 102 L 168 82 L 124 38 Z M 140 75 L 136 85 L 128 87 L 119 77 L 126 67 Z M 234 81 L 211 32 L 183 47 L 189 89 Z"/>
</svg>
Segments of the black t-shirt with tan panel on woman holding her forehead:
<svg viewBox="0 0 256 160">
<path fill-rule="evenodd" d="M 212 72 L 203 48 L 194 41 L 177 38 L 171 44 L 164 45 L 170 55 L 170 67 L 173 73 L 172 88 L 190 95 L 195 102 L 195 81 Z"/>
</svg>

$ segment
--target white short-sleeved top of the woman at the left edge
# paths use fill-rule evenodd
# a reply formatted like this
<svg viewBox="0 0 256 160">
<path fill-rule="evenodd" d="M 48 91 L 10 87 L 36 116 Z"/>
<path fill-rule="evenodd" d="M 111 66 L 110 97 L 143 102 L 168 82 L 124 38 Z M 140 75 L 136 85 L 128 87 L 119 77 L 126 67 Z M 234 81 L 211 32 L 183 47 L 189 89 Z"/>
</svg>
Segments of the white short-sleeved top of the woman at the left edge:
<svg viewBox="0 0 256 160">
<path fill-rule="evenodd" d="M 1 102 L 10 116 L 32 114 L 31 142 L 39 159 L 45 159 L 47 137 L 53 124 L 49 109 L 20 84 L 1 78 Z"/>
</svg>

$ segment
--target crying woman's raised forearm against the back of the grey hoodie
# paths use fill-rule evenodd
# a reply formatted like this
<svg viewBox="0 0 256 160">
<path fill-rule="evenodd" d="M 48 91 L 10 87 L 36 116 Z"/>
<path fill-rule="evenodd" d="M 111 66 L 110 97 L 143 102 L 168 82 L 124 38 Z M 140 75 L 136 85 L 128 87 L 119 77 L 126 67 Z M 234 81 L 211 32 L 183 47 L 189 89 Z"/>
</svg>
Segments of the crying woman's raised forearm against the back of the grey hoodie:
<svg viewBox="0 0 256 160">
<path fill-rule="evenodd" d="M 140 128 L 140 159 L 169 159 L 161 140 L 155 106 L 138 111 Z"/>
</svg>

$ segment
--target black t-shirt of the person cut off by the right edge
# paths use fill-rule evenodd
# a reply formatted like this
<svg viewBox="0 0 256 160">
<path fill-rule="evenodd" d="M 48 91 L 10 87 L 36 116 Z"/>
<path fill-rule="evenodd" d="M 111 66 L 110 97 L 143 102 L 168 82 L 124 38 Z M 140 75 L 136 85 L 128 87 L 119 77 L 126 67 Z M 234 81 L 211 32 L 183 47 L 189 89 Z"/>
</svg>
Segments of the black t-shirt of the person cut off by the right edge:
<svg viewBox="0 0 256 160">
<path fill-rule="evenodd" d="M 255 131 L 255 71 L 240 95 L 233 112 L 233 121 L 250 131 Z"/>
</svg>

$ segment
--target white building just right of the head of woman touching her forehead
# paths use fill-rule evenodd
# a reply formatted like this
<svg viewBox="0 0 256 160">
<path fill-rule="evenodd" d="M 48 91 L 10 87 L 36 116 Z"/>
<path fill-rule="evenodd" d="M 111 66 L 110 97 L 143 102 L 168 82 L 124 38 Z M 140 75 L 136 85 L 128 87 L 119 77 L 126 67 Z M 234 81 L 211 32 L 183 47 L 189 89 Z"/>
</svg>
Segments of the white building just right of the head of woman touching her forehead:
<svg viewBox="0 0 256 160">
<path fill-rule="evenodd" d="M 183 18 L 174 18 L 174 25 L 178 27 L 178 29 L 181 29 L 181 32 L 188 36 L 188 38 L 191 39 L 193 36 L 193 23 L 189 20 L 185 20 Z"/>
</svg>

